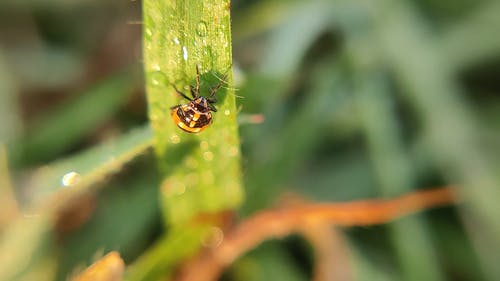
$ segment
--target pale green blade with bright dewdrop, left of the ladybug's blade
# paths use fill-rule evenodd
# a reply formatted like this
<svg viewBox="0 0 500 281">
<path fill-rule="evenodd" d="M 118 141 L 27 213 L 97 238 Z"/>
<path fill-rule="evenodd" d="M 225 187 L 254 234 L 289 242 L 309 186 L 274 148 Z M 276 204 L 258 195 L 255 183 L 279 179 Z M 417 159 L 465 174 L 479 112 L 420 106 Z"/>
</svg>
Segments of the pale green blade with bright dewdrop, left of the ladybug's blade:
<svg viewBox="0 0 500 281">
<path fill-rule="evenodd" d="M 29 199 L 39 204 L 35 206 L 34 216 L 18 216 L 4 230 L 0 239 L 0 248 L 3 249 L 0 262 L 6 266 L 0 270 L 0 280 L 32 280 L 31 275 L 38 274 L 39 267 L 39 270 L 45 268 L 43 272 L 48 275 L 38 275 L 36 280 L 54 280 L 56 246 L 53 245 L 52 228 L 58 208 L 73 196 L 88 192 L 90 186 L 120 171 L 129 161 L 147 151 L 151 140 L 151 131 L 145 126 L 35 171 L 31 184 L 25 187 L 28 190 L 23 193 L 30 194 Z M 70 171 L 76 172 L 73 180 L 68 179 L 68 183 L 73 181 L 73 184 L 64 186 L 62 178 Z"/>
</svg>

